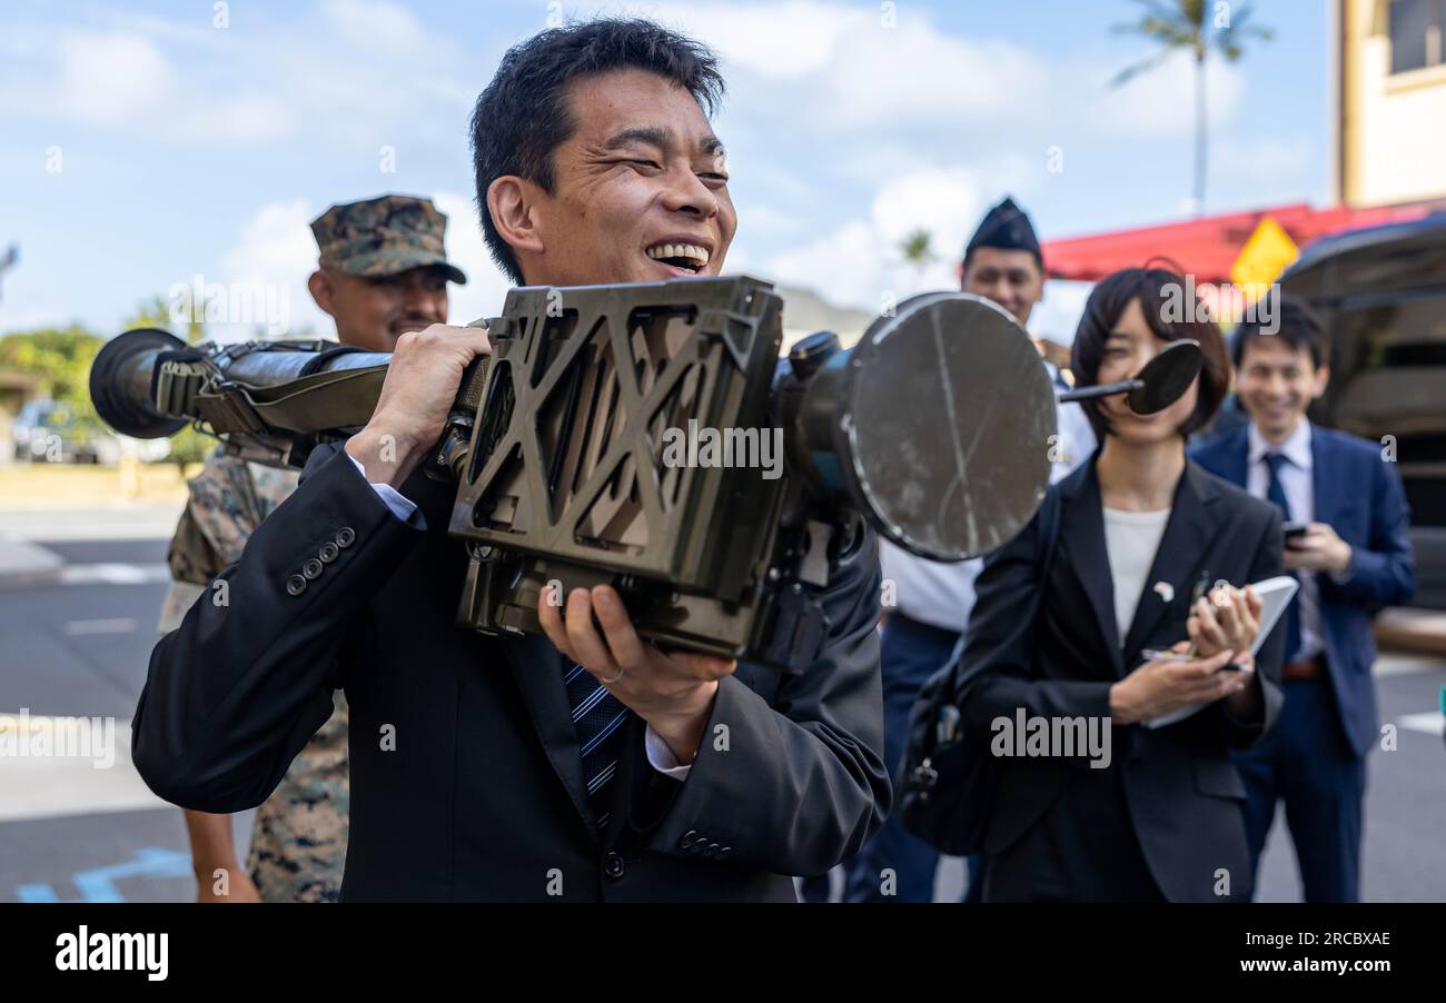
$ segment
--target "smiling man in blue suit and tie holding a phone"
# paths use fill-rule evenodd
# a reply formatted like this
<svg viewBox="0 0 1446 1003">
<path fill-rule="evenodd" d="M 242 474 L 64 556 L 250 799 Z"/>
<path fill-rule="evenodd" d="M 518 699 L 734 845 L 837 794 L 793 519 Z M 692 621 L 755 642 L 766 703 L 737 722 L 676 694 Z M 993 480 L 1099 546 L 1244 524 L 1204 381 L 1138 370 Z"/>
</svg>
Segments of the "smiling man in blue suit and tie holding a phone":
<svg viewBox="0 0 1446 1003">
<path fill-rule="evenodd" d="M 1330 379 L 1320 325 L 1291 296 L 1280 330 L 1235 335 L 1235 390 L 1249 425 L 1192 451 L 1206 470 L 1284 512 L 1285 568 L 1300 591 L 1283 619 L 1285 705 L 1275 730 L 1236 756 L 1252 867 L 1275 802 L 1307 902 L 1361 897 L 1365 754 L 1377 736 L 1371 617 L 1416 588 L 1401 478 L 1378 444 L 1306 418 Z M 1303 529 L 1301 529 L 1303 528 Z"/>
</svg>

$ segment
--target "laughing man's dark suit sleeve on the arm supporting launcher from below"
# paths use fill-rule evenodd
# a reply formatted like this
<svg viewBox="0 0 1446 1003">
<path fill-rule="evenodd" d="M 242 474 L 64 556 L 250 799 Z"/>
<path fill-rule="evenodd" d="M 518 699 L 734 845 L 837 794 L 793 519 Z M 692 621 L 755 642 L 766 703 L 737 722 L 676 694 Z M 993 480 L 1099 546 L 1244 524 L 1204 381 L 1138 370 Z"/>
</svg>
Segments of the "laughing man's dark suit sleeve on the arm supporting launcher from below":
<svg viewBox="0 0 1446 1003">
<path fill-rule="evenodd" d="M 720 858 L 778 874 L 821 874 L 884 822 L 878 541 L 868 533 L 824 594 L 823 652 L 784 678 L 772 701 L 719 684 L 703 746 L 648 838 L 651 850 Z M 777 710 L 775 710 L 777 708 Z"/>
</svg>

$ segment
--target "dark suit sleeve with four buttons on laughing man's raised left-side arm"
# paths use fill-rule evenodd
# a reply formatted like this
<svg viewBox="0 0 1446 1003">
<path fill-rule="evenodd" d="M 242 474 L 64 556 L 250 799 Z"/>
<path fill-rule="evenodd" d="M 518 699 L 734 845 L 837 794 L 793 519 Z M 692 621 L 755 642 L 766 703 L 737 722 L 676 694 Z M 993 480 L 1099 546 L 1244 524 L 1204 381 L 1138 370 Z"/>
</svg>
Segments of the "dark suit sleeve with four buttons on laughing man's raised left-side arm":
<svg viewBox="0 0 1446 1003">
<path fill-rule="evenodd" d="M 132 723 L 146 785 L 195 811 L 265 801 L 331 714 L 348 621 L 424 528 L 419 513 L 396 519 L 340 448 L 318 448 L 224 587 L 153 649 Z"/>
</svg>

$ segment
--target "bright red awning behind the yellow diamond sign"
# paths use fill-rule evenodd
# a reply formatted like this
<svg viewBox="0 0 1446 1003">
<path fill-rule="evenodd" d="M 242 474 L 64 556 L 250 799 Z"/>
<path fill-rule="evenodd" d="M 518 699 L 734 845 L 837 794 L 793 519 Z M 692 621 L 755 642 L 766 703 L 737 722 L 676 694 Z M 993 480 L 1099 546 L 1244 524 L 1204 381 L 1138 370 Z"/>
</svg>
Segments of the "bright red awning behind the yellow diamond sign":
<svg viewBox="0 0 1446 1003">
<path fill-rule="evenodd" d="M 1434 208 L 1440 205 L 1414 202 L 1365 210 L 1345 205 L 1313 210 L 1306 202 L 1297 202 L 1251 212 L 1209 215 L 1187 223 L 1051 240 L 1044 244 L 1044 269 L 1056 279 L 1098 282 L 1111 272 L 1139 267 L 1151 257 L 1167 257 L 1181 273 L 1193 275 L 1196 282 L 1226 283 L 1241 249 L 1267 215 L 1290 234 L 1297 247 L 1304 247 L 1329 233 L 1419 220 Z"/>
</svg>

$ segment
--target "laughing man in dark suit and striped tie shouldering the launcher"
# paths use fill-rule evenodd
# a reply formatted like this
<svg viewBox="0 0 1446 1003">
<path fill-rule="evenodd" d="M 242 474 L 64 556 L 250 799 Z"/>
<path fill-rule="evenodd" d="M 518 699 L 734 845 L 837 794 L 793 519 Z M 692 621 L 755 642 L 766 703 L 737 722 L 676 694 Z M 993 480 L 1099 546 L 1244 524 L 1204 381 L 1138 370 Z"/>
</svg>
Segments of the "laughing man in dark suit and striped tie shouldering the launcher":
<svg viewBox="0 0 1446 1003">
<path fill-rule="evenodd" d="M 525 285 L 717 275 L 720 91 L 711 53 L 648 22 L 512 49 L 473 117 L 493 254 Z M 606 587 L 544 603 L 547 637 L 458 629 L 454 491 L 416 465 L 486 351 L 479 328 L 402 335 L 372 421 L 312 455 L 224 572 L 228 603 L 156 646 L 142 776 L 187 808 L 256 805 L 344 688 L 344 900 L 792 900 L 787 876 L 857 851 L 889 805 L 876 542 L 840 559 L 797 676 L 664 653 Z"/>
</svg>

